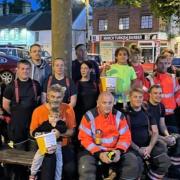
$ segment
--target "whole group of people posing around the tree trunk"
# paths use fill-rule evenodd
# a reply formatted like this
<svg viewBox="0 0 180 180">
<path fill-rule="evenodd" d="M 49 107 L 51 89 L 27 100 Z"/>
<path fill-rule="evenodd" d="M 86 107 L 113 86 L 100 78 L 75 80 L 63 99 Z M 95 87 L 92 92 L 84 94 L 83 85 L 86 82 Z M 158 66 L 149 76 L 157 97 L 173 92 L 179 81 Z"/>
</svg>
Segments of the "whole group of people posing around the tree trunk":
<svg viewBox="0 0 180 180">
<path fill-rule="evenodd" d="M 53 60 L 52 74 L 41 46 L 33 44 L 31 59 L 18 61 L 16 79 L 1 93 L 6 114 L 0 119 L 14 148 L 36 151 L 35 137 L 44 133 L 57 139 L 47 153 L 36 151 L 30 176 L 16 166 L 15 177 L 160 180 L 168 171 L 178 177 L 180 86 L 173 51 L 164 49 L 145 77 L 136 45 L 117 48 L 115 63 L 102 72 L 85 45 L 75 50 L 71 79 L 62 58 Z M 102 92 L 100 76 L 115 77 L 116 87 Z"/>
</svg>

